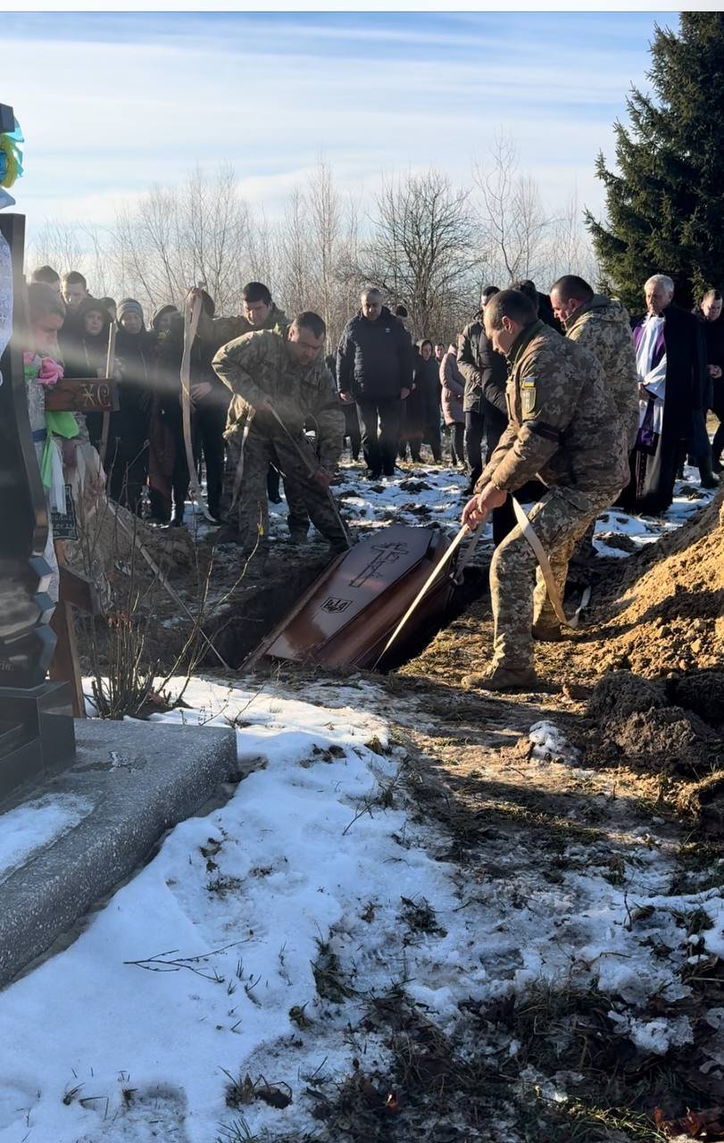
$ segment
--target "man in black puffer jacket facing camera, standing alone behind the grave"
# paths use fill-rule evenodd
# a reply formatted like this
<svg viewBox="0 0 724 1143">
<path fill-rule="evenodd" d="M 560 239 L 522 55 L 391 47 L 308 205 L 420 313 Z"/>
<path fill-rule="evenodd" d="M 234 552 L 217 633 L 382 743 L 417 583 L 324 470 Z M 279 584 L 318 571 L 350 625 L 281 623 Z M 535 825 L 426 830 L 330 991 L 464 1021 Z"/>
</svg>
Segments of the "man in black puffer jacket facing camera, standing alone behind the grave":
<svg viewBox="0 0 724 1143">
<path fill-rule="evenodd" d="M 343 401 L 356 401 L 364 459 L 377 480 L 395 471 L 402 401 L 412 387 L 412 347 L 378 289 L 364 290 L 360 301 L 337 350 L 337 386 Z"/>
</svg>

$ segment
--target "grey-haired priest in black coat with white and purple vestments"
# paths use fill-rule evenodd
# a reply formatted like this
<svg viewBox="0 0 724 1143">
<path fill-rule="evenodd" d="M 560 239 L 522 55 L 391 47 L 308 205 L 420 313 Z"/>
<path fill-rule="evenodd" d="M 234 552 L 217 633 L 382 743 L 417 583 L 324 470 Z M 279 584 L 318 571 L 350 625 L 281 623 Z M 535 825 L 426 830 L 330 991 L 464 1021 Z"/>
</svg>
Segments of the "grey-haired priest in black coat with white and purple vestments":
<svg viewBox="0 0 724 1143">
<path fill-rule="evenodd" d="M 644 286 L 644 297 L 647 312 L 634 323 L 638 433 L 630 457 L 632 478 L 619 503 L 655 515 L 674 498 L 676 470 L 686 454 L 694 417 L 701 419 L 705 357 L 699 323 L 674 304 L 670 278 L 653 274 Z"/>
</svg>

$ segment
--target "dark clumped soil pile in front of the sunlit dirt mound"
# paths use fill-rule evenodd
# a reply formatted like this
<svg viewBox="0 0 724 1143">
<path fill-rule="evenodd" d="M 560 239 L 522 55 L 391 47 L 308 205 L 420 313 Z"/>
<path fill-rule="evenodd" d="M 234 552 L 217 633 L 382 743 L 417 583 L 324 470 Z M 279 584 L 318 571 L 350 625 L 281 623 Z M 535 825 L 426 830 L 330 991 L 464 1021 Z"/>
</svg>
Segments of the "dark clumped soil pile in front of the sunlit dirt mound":
<svg viewBox="0 0 724 1143">
<path fill-rule="evenodd" d="M 708 672 L 706 672 L 708 673 Z M 715 673 L 715 672 L 711 672 Z M 613 671 L 595 687 L 586 710 L 584 738 L 589 764 L 627 764 L 657 773 L 700 778 L 724 762 L 724 743 L 716 730 L 679 702 L 701 690 L 678 680 L 651 682 L 629 671 Z"/>
</svg>

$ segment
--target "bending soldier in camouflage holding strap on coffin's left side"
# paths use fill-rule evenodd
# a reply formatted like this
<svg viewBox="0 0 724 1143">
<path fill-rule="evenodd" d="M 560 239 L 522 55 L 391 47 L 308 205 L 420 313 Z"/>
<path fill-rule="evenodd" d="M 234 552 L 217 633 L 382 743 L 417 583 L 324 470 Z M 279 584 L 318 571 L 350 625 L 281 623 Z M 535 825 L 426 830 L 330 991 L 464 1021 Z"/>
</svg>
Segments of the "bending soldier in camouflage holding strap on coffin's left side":
<svg viewBox="0 0 724 1143">
<path fill-rule="evenodd" d="M 228 385 L 232 403 L 226 439 L 238 457 L 228 522 L 219 543 L 238 543 L 244 554 L 255 549 L 262 570 L 268 554 L 266 473 L 270 463 L 284 474 L 287 488 L 304 503 L 315 527 L 333 550 L 347 547 L 344 529 L 327 489 L 341 451 L 344 416 L 329 369 L 320 359 L 324 322 L 315 313 L 300 313 L 285 337 L 271 330 L 246 334 L 224 345 L 214 368 Z M 272 415 L 274 410 L 297 445 L 308 453 L 309 471 L 292 440 Z M 304 435 L 304 422 L 319 426 L 317 461 Z"/>
</svg>

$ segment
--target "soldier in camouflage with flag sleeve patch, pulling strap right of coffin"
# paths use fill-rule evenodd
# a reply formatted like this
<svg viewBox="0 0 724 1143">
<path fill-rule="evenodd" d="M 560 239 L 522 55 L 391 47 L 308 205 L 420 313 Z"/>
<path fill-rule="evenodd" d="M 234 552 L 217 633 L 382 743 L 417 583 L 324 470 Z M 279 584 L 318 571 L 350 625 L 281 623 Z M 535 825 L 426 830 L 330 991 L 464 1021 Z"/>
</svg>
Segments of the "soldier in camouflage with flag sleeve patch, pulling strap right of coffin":
<svg viewBox="0 0 724 1143">
<path fill-rule="evenodd" d="M 530 301 L 502 290 L 485 306 L 485 334 L 508 359 L 508 426 L 475 486 L 462 522 L 482 523 L 528 480 L 546 495 L 530 513 L 562 590 L 576 542 L 613 503 L 628 477 L 613 400 L 595 358 L 536 319 Z M 536 555 L 520 527 L 496 549 L 490 567 L 493 660 L 468 686 L 506 690 L 536 685 L 533 623 L 550 602 Z"/>
</svg>

